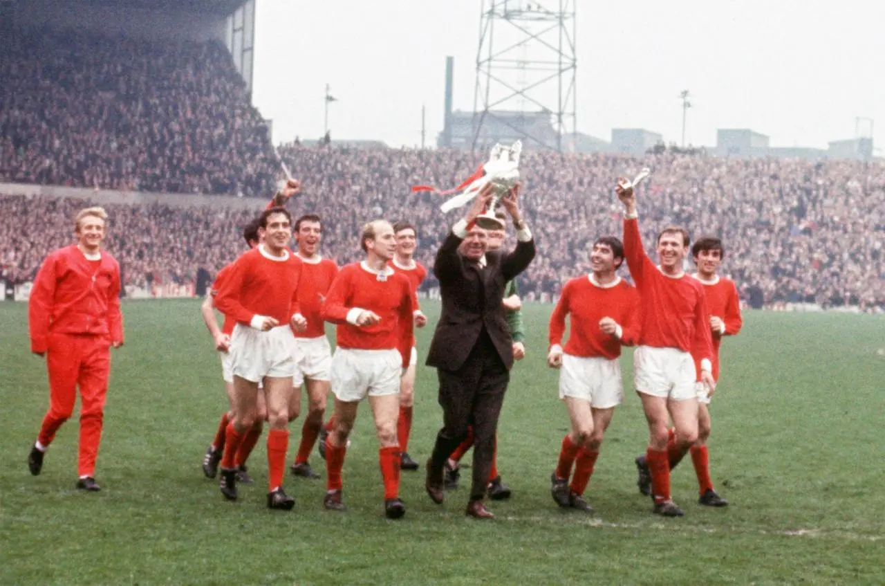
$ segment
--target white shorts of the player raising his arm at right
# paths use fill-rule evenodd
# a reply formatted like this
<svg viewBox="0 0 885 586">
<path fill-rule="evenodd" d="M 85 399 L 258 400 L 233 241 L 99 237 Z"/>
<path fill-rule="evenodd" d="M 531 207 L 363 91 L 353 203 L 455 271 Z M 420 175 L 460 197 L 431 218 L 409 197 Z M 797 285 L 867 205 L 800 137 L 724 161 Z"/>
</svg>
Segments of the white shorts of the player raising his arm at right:
<svg viewBox="0 0 885 586">
<path fill-rule="evenodd" d="M 635 387 L 653 397 L 685 401 L 697 397 L 695 361 L 677 348 L 639 346 L 633 353 Z"/>
</svg>

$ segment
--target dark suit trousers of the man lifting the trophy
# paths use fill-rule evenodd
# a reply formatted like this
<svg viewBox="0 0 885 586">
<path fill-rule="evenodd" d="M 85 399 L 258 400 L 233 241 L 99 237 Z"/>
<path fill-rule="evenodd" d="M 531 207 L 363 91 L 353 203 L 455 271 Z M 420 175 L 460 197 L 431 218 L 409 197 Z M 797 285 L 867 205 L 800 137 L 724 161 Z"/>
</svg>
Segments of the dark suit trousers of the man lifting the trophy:
<svg viewBox="0 0 885 586">
<path fill-rule="evenodd" d="M 471 500 L 486 496 L 495 454 L 495 434 L 510 371 L 482 329 L 473 350 L 457 371 L 437 369 L 443 407 L 443 428 L 436 435 L 432 465 L 440 470 L 473 426 L 473 485 Z"/>
</svg>

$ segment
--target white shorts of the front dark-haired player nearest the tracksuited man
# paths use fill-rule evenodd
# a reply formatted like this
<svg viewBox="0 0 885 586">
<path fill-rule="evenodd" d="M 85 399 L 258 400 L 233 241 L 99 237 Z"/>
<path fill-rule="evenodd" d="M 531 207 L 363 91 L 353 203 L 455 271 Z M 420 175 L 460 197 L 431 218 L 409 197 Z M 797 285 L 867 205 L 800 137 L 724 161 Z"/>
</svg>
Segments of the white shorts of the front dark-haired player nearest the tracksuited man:
<svg viewBox="0 0 885 586">
<path fill-rule="evenodd" d="M 230 336 L 228 353 L 231 373 L 247 381 L 295 376 L 295 335 L 288 324 L 262 332 L 238 323 Z"/>
</svg>

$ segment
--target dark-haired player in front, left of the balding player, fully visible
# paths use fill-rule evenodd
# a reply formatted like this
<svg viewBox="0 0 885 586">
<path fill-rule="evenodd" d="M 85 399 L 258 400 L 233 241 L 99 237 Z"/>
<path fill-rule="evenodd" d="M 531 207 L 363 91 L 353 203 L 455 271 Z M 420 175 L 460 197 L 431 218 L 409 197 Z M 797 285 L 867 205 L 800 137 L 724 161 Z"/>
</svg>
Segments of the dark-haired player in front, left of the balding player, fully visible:
<svg viewBox="0 0 885 586">
<path fill-rule="evenodd" d="M 221 459 L 221 493 L 237 498 L 235 454 L 258 408 L 263 382 L 270 433 L 267 436 L 267 506 L 290 510 L 295 499 L 282 490 L 289 447 L 289 405 L 296 373 L 292 328 L 304 330 L 297 289 L 301 260 L 288 250 L 291 214 L 273 207 L 261 214 L 264 243 L 237 258 L 216 296 L 219 311 L 236 320 L 230 352 L 234 374 L 234 420 L 227 426 Z"/>
</svg>

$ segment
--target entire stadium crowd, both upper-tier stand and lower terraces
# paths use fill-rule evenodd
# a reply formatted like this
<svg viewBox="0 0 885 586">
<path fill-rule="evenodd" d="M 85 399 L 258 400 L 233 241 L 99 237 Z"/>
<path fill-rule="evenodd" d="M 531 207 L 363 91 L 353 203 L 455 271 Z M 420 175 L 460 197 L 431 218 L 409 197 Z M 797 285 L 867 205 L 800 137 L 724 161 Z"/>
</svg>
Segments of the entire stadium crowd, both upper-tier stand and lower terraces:
<svg viewBox="0 0 885 586">
<path fill-rule="evenodd" d="M 385 217 L 418 224 L 418 258 L 431 265 L 455 214 L 439 211 L 442 196 L 410 188 L 454 187 L 487 151 L 324 141 L 284 145 L 281 156 L 304 181 L 294 212 L 318 212 L 326 221 L 327 256 L 358 258 L 362 223 Z M 751 305 L 885 307 L 881 162 L 724 159 L 667 149 L 642 159 L 523 154 L 524 211 L 540 251 L 521 277 L 525 295 L 555 297 L 568 277 L 588 270 L 589 243 L 621 232 L 616 178 L 643 166 L 651 170 L 640 189 L 647 246 L 666 224 L 720 235 L 724 272 Z M 264 122 L 219 43 L 50 31 L 4 38 L 0 182 L 270 197 L 280 175 Z M 0 197 L 4 279 L 29 280 L 46 251 L 70 238 L 70 218 L 83 204 Z M 124 280 L 139 287 L 214 274 L 242 250 L 239 228 L 250 220 L 224 207 L 107 207 L 108 247 Z M 432 278 L 426 286 L 435 286 Z"/>
</svg>

